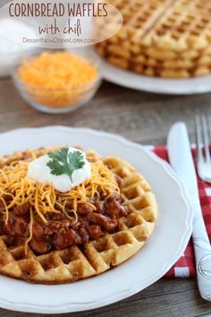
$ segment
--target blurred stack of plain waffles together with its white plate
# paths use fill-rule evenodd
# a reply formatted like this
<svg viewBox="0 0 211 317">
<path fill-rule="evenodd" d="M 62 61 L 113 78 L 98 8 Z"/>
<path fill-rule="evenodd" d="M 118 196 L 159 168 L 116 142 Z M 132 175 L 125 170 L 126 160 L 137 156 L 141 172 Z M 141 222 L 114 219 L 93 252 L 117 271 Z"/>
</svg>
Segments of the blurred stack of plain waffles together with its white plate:
<svg viewBox="0 0 211 317">
<path fill-rule="evenodd" d="M 211 91 L 210 0 L 108 2 L 123 24 L 96 45 L 106 80 L 157 93 Z M 100 25 L 100 34 L 109 24 Z"/>
</svg>

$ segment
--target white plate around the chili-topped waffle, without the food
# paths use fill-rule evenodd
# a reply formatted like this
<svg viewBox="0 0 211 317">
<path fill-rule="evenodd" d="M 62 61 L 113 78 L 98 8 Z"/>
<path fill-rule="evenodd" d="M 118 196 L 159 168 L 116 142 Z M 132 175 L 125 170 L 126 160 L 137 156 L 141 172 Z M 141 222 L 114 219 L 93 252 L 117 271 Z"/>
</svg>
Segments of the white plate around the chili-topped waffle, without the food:
<svg viewBox="0 0 211 317">
<path fill-rule="evenodd" d="M 172 169 L 139 144 L 114 134 L 50 126 L 0 134 L 0 155 L 55 144 L 81 145 L 127 159 L 148 179 L 158 202 L 156 228 L 148 243 L 119 267 L 102 275 L 59 286 L 31 285 L 0 276 L 0 306 L 31 313 L 89 310 L 131 296 L 161 278 L 190 239 L 192 214 Z"/>
</svg>

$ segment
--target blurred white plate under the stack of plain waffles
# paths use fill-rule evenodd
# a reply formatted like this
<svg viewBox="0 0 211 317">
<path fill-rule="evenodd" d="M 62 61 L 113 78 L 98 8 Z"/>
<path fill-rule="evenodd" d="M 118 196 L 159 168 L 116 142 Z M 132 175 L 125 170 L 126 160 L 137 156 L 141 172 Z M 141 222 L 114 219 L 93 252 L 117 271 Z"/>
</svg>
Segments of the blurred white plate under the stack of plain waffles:
<svg viewBox="0 0 211 317">
<path fill-rule="evenodd" d="M 192 95 L 211 91 L 211 75 L 190 79 L 167 80 L 124 71 L 112 64 L 108 64 L 101 57 L 99 59 L 102 63 L 102 74 L 105 80 L 123 87 L 173 95 Z"/>
</svg>

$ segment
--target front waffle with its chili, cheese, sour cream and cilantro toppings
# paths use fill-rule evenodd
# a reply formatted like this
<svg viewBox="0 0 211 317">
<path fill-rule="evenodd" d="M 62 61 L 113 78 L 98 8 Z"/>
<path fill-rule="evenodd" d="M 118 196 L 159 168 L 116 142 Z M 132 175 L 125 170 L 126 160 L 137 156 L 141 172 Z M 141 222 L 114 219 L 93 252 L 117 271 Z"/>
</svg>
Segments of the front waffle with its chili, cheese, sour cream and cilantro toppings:
<svg viewBox="0 0 211 317">
<path fill-rule="evenodd" d="M 58 147 L 15 152 L 0 167 L 4 275 L 44 284 L 89 278 L 137 253 L 154 229 L 155 196 L 122 159 Z"/>
</svg>

